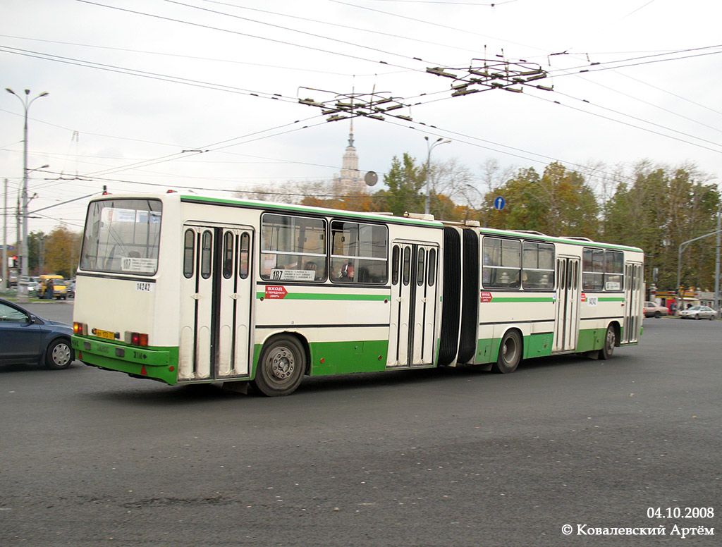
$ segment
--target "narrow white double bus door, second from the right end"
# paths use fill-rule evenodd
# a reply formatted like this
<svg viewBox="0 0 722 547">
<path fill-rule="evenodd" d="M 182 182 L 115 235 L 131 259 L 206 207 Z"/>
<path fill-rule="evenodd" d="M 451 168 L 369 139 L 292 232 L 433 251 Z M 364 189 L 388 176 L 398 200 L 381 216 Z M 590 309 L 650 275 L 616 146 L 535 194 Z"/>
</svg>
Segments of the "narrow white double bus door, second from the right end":
<svg viewBox="0 0 722 547">
<path fill-rule="evenodd" d="M 552 351 L 574 351 L 579 333 L 580 271 L 578 258 L 557 258 L 557 309 Z"/>
</svg>

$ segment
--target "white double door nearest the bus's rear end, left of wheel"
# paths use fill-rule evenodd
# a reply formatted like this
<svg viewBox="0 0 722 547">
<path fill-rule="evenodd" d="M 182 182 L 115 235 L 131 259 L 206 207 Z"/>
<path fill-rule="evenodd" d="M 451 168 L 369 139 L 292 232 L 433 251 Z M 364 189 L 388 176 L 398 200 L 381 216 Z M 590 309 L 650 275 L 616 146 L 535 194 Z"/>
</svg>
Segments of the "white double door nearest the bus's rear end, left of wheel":
<svg viewBox="0 0 722 547">
<path fill-rule="evenodd" d="M 178 381 L 248 375 L 252 249 L 250 228 L 184 227 Z"/>
</svg>

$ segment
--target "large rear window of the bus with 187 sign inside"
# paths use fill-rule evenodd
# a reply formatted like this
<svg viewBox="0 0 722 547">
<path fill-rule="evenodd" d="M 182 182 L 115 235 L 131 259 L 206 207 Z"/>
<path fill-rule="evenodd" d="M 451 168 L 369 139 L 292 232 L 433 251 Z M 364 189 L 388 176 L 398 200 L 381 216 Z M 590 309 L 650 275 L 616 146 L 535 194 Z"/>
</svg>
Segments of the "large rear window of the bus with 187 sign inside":
<svg viewBox="0 0 722 547">
<path fill-rule="evenodd" d="M 152 276 L 158 269 L 157 199 L 107 199 L 88 208 L 80 267 L 86 271 Z"/>
</svg>

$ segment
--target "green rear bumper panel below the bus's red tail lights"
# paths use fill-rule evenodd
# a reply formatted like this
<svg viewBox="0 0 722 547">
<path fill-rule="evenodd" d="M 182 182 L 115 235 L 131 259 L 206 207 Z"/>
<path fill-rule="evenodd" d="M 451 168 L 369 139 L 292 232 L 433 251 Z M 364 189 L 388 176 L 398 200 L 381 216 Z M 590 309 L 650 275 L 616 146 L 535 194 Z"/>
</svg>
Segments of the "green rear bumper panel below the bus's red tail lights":
<svg viewBox="0 0 722 547">
<path fill-rule="evenodd" d="M 131 376 L 178 381 L 178 348 L 130 346 L 91 336 L 71 337 L 77 359 L 92 367 L 125 372 Z"/>
</svg>

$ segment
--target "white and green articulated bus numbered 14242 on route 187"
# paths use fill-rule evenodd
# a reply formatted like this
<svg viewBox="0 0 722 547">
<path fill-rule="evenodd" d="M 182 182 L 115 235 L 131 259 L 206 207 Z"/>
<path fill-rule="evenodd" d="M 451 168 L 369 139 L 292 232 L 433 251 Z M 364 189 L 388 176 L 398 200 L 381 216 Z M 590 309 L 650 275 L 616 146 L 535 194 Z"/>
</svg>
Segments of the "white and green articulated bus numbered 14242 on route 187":
<svg viewBox="0 0 722 547">
<path fill-rule="evenodd" d="M 72 343 L 93 367 L 269 396 L 304 375 L 608 359 L 638 343 L 643 261 L 429 215 L 102 196 L 87 211 Z"/>
</svg>

